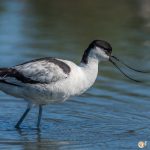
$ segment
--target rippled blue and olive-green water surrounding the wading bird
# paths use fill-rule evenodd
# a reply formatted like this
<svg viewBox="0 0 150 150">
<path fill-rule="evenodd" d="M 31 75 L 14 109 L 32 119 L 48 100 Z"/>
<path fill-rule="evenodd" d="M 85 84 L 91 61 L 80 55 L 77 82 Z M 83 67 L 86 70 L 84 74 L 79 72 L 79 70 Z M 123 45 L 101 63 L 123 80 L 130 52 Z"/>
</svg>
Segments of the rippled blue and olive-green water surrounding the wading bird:
<svg viewBox="0 0 150 150">
<path fill-rule="evenodd" d="M 135 68 L 150 70 L 150 2 L 148 0 L 0 1 L 0 67 L 33 58 L 56 56 L 80 62 L 93 39 L 112 43 L 113 54 Z M 149 75 L 125 79 L 105 62 L 85 94 L 63 104 L 45 106 L 41 130 L 34 108 L 14 128 L 26 107 L 0 93 L 0 149 L 76 150 L 150 149 Z M 127 70 L 128 73 L 129 70 Z"/>
</svg>

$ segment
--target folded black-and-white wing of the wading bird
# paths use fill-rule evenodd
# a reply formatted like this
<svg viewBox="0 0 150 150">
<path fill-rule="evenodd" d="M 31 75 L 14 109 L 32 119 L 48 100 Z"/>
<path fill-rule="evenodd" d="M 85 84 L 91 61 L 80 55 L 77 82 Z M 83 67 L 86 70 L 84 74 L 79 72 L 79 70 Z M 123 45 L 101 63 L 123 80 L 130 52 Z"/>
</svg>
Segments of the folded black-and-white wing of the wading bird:
<svg viewBox="0 0 150 150">
<path fill-rule="evenodd" d="M 14 81 L 29 84 L 49 84 L 69 76 L 70 67 L 63 60 L 41 58 L 12 68 L 0 69 L 0 81 L 14 84 Z"/>
</svg>

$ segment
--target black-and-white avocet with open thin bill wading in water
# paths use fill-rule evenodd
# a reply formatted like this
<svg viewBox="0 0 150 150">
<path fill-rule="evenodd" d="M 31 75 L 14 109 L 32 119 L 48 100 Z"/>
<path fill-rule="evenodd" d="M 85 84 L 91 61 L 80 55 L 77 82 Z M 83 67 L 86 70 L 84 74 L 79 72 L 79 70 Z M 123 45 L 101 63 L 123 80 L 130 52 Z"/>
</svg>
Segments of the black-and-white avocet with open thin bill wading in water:
<svg viewBox="0 0 150 150">
<path fill-rule="evenodd" d="M 111 53 L 110 43 L 94 40 L 85 49 L 79 65 L 65 59 L 45 57 L 9 68 L 0 68 L 0 91 L 27 102 L 27 108 L 15 128 L 21 128 L 25 117 L 33 105 L 36 105 L 39 108 L 37 118 L 39 129 L 43 106 L 64 102 L 72 96 L 84 93 L 94 84 L 98 75 L 98 65 L 102 61 L 110 61 L 128 77 L 112 58 L 120 60 L 111 56 Z"/>
</svg>

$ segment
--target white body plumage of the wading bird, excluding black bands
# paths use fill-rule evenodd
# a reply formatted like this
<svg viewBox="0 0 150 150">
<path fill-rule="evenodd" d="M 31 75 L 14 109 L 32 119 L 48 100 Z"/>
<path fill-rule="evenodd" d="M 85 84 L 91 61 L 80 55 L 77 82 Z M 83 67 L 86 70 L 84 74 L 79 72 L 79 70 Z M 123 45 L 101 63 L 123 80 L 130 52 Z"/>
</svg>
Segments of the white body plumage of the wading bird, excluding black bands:
<svg viewBox="0 0 150 150">
<path fill-rule="evenodd" d="M 91 87 L 98 73 L 98 60 L 89 59 L 87 65 L 77 66 L 73 62 L 60 60 L 71 69 L 68 74 L 53 62 L 35 61 L 15 66 L 25 77 L 39 81 L 36 84 L 23 83 L 14 77 L 7 75 L 1 77 L 6 82 L 0 83 L 0 90 L 19 98 L 24 98 L 35 104 L 48 104 L 62 102 L 70 96 L 79 95 Z"/>
</svg>

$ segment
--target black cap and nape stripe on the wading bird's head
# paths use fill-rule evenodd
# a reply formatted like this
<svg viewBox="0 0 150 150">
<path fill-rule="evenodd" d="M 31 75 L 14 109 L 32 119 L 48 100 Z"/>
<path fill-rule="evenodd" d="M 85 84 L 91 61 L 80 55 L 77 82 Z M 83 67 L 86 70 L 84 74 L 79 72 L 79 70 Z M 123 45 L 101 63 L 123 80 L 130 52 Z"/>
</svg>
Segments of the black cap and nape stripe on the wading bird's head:
<svg viewBox="0 0 150 150">
<path fill-rule="evenodd" d="M 100 48 L 106 50 L 106 52 L 108 54 L 111 54 L 111 52 L 112 52 L 112 47 L 108 42 L 103 41 L 103 40 L 94 40 L 93 42 L 90 43 L 88 48 L 85 50 L 82 60 L 81 60 L 82 63 L 85 63 L 85 64 L 88 63 L 88 55 L 94 47 L 100 47 Z"/>
</svg>

